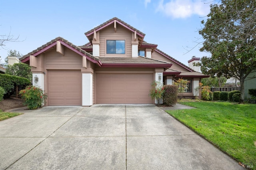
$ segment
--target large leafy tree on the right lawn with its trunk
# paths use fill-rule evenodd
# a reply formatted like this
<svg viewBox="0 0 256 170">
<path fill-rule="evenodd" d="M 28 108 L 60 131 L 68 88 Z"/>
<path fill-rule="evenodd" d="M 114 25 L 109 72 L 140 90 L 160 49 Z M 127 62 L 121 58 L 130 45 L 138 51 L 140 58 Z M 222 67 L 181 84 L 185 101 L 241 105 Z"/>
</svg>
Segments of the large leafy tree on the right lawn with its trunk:
<svg viewBox="0 0 256 170">
<path fill-rule="evenodd" d="M 199 30 L 204 39 L 200 51 L 211 56 L 202 57 L 197 65 L 204 74 L 240 80 L 242 103 L 244 81 L 256 70 L 256 1 L 222 0 L 210 5 L 207 17 Z"/>
</svg>

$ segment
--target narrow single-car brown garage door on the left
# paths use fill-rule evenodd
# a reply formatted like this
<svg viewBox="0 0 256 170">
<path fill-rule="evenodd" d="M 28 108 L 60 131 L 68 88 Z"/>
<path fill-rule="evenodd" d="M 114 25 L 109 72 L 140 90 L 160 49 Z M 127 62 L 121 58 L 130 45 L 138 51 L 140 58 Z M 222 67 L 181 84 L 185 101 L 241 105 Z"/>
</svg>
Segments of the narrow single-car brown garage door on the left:
<svg viewBox="0 0 256 170">
<path fill-rule="evenodd" d="M 81 71 L 48 70 L 48 106 L 81 106 Z"/>
</svg>

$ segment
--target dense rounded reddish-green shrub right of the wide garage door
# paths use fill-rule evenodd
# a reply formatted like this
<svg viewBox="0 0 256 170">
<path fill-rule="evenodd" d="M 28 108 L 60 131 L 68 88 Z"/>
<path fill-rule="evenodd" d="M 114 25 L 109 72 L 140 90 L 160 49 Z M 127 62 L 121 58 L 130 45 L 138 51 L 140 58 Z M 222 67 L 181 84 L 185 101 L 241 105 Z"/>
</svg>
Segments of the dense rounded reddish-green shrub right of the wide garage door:
<svg viewBox="0 0 256 170">
<path fill-rule="evenodd" d="M 178 87 L 175 85 L 165 85 L 163 102 L 166 106 L 174 106 L 178 99 Z"/>
</svg>

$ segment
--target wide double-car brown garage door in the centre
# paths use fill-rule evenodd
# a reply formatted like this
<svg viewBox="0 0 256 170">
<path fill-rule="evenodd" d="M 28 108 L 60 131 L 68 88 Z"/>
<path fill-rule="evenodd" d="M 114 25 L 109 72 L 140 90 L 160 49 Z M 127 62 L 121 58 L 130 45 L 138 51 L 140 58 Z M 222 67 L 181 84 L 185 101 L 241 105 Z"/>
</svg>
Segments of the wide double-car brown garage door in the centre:
<svg viewBox="0 0 256 170">
<path fill-rule="evenodd" d="M 152 104 L 153 74 L 96 74 L 97 104 Z"/>
</svg>

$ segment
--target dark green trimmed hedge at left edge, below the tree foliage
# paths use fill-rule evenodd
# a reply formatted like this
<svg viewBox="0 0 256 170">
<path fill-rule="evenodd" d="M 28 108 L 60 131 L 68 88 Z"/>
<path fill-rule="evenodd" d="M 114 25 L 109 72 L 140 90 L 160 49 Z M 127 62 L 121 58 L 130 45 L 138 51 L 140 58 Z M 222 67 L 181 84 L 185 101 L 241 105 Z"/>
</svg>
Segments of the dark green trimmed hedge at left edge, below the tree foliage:
<svg viewBox="0 0 256 170">
<path fill-rule="evenodd" d="M 0 84 L 6 92 L 4 97 L 9 97 L 16 91 L 17 86 L 24 89 L 26 86 L 30 85 L 30 81 L 23 77 L 0 74 Z"/>
</svg>

